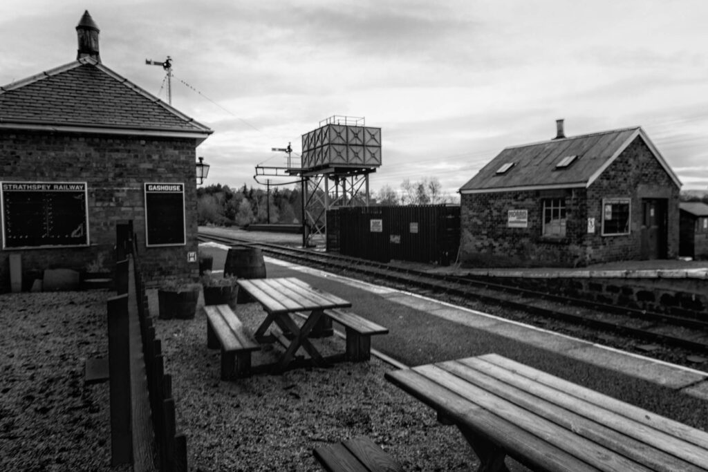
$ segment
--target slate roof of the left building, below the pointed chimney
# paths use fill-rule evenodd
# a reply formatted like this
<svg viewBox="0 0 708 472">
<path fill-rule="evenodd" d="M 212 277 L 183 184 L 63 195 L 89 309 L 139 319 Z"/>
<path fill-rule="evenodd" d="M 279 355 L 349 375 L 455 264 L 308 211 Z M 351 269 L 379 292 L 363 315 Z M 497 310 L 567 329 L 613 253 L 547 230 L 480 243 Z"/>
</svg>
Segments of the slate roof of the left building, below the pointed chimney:
<svg viewBox="0 0 708 472">
<path fill-rule="evenodd" d="M 91 57 L 0 87 L 0 129 L 190 137 L 198 142 L 212 134 Z"/>
</svg>

